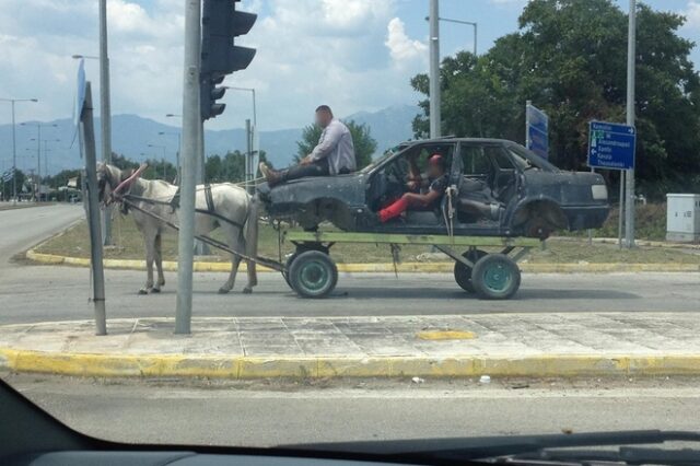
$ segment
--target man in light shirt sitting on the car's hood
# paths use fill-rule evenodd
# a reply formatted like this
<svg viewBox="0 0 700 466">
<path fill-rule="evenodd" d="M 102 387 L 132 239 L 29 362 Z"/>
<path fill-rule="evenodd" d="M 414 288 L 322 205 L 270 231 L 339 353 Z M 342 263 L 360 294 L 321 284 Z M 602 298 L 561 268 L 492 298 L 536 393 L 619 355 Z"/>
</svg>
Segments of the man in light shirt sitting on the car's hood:
<svg viewBox="0 0 700 466">
<path fill-rule="evenodd" d="M 270 186 L 305 176 L 343 175 L 355 171 L 352 135 L 342 121 L 332 116 L 328 105 L 316 108 L 316 125 L 323 128 L 318 144 L 298 165 L 276 171 L 260 162 L 260 173 Z"/>
</svg>

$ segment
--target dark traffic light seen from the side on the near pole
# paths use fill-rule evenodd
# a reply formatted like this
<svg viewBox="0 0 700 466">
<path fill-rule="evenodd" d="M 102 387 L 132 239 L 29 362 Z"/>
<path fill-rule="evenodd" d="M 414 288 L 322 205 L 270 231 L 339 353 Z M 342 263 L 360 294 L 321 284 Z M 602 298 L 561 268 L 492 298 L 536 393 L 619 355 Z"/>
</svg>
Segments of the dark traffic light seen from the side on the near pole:
<svg viewBox="0 0 700 466">
<path fill-rule="evenodd" d="M 240 0 L 203 0 L 201 18 L 201 118 L 214 118 L 225 104 L 217 103 L 225 93 L 221 84 L 226 74 L 244 70 L 255 49 L 234 45 L 234 37 L 247 34 L 257 14 L 236 11 Z"/>
</svg>

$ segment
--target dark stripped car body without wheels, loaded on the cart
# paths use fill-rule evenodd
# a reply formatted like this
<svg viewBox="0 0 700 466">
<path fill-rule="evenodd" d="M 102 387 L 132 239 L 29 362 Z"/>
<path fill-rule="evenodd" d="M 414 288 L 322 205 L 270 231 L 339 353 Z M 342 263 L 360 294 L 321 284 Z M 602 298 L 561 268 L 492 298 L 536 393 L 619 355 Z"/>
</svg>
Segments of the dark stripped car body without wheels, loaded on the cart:
<svg viewBox="0 0 700 466">
<path fill-rule="evenodd" d="M 374 220 L 382 207 L 408 190 L 410 160 L 424 173 L 434 153 L 447 161 L 451 194 L 431 210 L 408 211 L 387 223 Z M 451 230 L 456 235 L 546 238 L 556 230 L 600 228 L 609 211 L 603 176 L 561 171 L 502 139 L 406 142 L 357 173 L 301 178 L 271 188 L 262 184 L 258 193 L 271 218 L 293 220 L 307 230 L 330 221 L 355 232 L 445 234 Z"/>
</svg>

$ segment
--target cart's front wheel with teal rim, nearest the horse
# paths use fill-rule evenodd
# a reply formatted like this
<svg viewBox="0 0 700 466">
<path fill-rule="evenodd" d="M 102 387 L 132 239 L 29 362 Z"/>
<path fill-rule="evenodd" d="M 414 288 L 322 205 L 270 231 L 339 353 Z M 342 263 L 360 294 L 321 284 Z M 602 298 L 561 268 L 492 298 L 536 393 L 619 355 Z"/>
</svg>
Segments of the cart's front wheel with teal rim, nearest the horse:
<svg viewBox="0 0 700 466">
<path fill-rule="evenodd" d="M 294 257 L 289 281 L 302 298 L 324 298 L 336 288 L 338 268 L 327 254 L 306 251 Z"/>
</svg>

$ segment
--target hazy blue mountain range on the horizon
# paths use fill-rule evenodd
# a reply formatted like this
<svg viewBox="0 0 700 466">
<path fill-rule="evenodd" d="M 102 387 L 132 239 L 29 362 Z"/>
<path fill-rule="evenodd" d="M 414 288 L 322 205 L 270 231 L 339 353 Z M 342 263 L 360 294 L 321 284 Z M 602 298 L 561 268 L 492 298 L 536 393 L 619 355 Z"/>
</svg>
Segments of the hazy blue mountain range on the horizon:
<svg viewBox="0 0 700 466">
<path fill-rule="evenodd" d="M 359 112 L 341 119 L 368 125 L 372 137 L 377 141 L 377 153 L 382 153 L 385 149 L 412 138 L 411 121 L 419 112 L 418 106 L 394 105 L 378 112 Z M 61 170 L 82 166 L 72 119 L 43 121 L 42 125 L 40 139 L 47 140 L 45 143 L 47 151 L 42 151 L 42 174 L 47 170 L 48 174 L 54 174 Z M 100 154 L 100 118 L 95 118 L 94 126 Z M 301 139 L 302 130 L 303 128 L 261 130 L 260 149 L 266 151 L 268 160 L 275 166 L 285 166 L 296 153 L 296 141 Z M 159 135 L 159 132 L 165 132 L 165 135 Z M 179 127 L 164 125 L 138 115 L 125 114 L 112 117 L 113 152 L 131 160 L 165 156 L 166 160 L 174 162 L 178 148 L 178 133 Z M 16 126 L 18 167 L 22 171 L 36 170 L 37 135 L 37 121 Z M 225 154 L 236 149 L 243 152 L 245 151 L 245 129 L 206 130 L 205 142 L 207 155 Z M 5 171 L 11 166 L 12 126 L 0 125 L 0 170 Z"/>
</svg>

